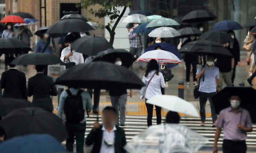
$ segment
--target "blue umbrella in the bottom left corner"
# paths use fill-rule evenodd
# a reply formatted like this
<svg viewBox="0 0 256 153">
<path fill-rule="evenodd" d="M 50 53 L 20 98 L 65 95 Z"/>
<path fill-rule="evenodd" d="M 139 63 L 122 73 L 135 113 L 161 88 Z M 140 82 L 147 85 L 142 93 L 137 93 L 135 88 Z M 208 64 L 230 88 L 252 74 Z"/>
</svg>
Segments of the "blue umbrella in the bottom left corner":
<svg viewBox="0 0 256 153">
<path fill-rule="evenodd" d="M 15 147 L 14 147 L 15 146 Z M 60 153 L 65 148 L 48 134 L 19 136 L 0 144 L 1 153 Z"/>
</svg>

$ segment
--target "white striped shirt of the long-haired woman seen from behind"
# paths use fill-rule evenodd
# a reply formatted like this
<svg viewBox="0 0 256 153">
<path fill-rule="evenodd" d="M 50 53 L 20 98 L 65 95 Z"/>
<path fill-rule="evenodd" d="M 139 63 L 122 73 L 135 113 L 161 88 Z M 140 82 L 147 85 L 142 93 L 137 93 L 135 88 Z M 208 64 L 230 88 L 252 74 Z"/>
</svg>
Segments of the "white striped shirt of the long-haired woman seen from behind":
<svg viewBox="0 0 256 153">
<path fill-rule="evenodd" d="M 159 72 L 158 75 L 157 74 L 154 75 L 155 72 L 156 71 L 154 70 L 154 71 L 149 72 L 147 77 L 143 76 L 142 82 L 144 84 L 147 84 L 148 88 L 146 86 L 142 87 L 141 98 L 144 97 L 145 91 L 146 91 L 146 99 L 150 99 L 154 95 L 162 95 L 161 87 L 164 88 L 166 85 L 164 78 L 163 78 L 163 74 L 161 72 Z M 153 75 L 154 75 L 154 77 L 152 78 Z M 151 81 L 148 84 L 150 79 L 151 79 Z"/>
</svg>

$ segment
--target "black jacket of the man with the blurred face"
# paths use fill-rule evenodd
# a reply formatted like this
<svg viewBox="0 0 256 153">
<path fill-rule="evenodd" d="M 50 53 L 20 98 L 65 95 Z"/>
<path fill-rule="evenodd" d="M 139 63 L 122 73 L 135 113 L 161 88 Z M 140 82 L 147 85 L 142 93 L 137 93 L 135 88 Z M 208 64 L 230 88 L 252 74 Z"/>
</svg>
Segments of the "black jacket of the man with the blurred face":
<svg viewBox="0 0 256 153">
<path fill-rule="evenodd" d="M 114 152 L 115 153 L 126 153 L 126 150 L 123 147 L 126 145 L 126 137 L 124 130 L 121 127 L 116 126 L 117 130 L 115 130 L 115 139 L 114 139 Z M 85 139 L 86 145 L 93 144 L 93 149 L 91 153 L 99 153 L 101 144 L 102 144 L 102 125 L 94 131 L 93 129 L 90 131 L 88 136 Z"/>
</svg>

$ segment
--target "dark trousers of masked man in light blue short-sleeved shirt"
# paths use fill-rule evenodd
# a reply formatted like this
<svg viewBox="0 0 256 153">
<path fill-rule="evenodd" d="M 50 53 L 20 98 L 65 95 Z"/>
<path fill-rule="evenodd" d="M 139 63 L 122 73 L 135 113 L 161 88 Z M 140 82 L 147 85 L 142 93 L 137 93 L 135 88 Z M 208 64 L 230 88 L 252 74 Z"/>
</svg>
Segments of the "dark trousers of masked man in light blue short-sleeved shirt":
<svg viewBox="0 0 256 153">
<path fill-rule="evenodd" d="M 206 105 L 207 99 L 209 99 L 209 101 L 210 101 L 212 121 L 217 121 L 217 114 L 215 113 L 213 101 L 211 99 L 211 97 L 214 96 L 215 94 L 216 94 L 216 92 L 210 92 L 210 93 L 199 92 L 201 121 L 205 121 L 205 105 Z"/>
</svg>

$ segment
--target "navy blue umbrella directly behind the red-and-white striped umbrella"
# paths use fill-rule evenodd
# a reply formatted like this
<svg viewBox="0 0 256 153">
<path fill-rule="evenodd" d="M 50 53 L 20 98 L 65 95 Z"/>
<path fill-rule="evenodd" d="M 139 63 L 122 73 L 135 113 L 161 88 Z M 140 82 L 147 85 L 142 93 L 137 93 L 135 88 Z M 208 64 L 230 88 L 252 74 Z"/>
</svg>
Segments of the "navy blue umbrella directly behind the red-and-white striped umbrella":
<svg viewBox="0 0 256 153">
<path fill-rule="evenodd" d="M 169 43 L 154 43 L 151 46 L 148 46 L 148 48 L 145 49 L 145 52 L 151 51 L 151 50 L 156 50 L 156 47 L 160 46 L 161 49 L 167 51 L 167 52 L 171 52 L 174 55 L 176 55 L 180 60 L 181 60 L 181 53 L 178 52 L 178 48 L 172 44 Z M 177 66 L 178 64 L 172 64 L 172 63 L 167 63 L 166 66 L 168 68 L 172 68 Z"/>
</svg>

